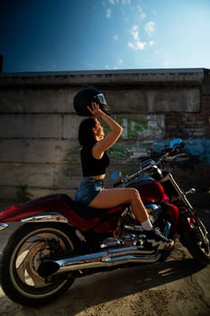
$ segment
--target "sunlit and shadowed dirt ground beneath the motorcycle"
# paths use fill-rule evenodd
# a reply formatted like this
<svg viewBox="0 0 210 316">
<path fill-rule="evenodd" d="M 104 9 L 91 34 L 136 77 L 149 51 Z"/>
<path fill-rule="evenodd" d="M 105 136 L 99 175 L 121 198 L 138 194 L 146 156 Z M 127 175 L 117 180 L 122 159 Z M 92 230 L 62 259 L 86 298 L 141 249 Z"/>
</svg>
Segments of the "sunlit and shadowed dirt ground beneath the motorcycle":
<svg viewBox="0 0 210 316">
<path fill-rule="evenodd" d="M 209 210 L 199 216 L 210 231 Z M 177 243 L 165 263 L 80 278 L 58 300 L 41 307 L 18 305 L 0 290 L 0 315 L 209 316 L 210 265 L 198 268 Z"/>
</svg>

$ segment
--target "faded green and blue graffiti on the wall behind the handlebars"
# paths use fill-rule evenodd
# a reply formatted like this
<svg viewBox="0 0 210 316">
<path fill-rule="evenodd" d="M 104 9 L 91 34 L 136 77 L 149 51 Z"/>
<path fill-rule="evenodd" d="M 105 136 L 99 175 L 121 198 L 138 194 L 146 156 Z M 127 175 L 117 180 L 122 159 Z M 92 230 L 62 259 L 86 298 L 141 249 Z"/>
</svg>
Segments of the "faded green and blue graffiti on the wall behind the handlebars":
<svg viewBox="0 0 210 316">
<path fill-rule="evenodd" d="M 169 147 L 165 137 L 164 115 L 122 116 L 117 121 L 123 125 L 123 135 L 109 150 L 114 160 L 128 163 L 134 159 L 160 154 Z M 180 135 L 181 138 L 181 135 Z M 187 150 L 199 164 L 210 164 L 210 140 L 200 138 L 182 139 Z"/>
</svg>

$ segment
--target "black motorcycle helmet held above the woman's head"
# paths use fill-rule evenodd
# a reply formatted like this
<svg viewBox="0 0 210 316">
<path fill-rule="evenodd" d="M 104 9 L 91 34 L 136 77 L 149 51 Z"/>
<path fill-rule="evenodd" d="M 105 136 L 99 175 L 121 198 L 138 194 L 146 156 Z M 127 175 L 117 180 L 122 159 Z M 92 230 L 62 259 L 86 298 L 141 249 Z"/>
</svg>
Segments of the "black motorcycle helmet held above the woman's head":
<svg viewBox="0 0 210 316">
<path fill-rule="evenodd" d="M 78 116 L 91 116 L 87 107 L 91 107 L 92 102 L 96 102 L 102 111 L 110 114 L 110 107 L 107 105 L 104 94 L 94 87 L 86 87 L 80 89 L 74 97 L 74 107 Z"/>
</svg>

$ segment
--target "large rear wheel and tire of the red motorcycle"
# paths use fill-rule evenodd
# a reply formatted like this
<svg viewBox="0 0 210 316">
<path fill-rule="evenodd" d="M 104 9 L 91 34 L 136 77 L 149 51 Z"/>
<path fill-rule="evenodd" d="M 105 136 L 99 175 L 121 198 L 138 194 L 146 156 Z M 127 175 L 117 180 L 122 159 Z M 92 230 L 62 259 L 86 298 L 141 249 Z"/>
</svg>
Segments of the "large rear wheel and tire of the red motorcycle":
<svg viewBox="0 0 210 316">
<path fill-rule="evenodd" d="M 72 234 L 73 235 L 73 234 Z M 56 223 L 25 224 L 9 239 L 1 256 L 0 282 L 5 294 L 23 305 L 42 305 L 65 293 L 74 274 L 45 282 L 37 270 L 41 259 L 75 252 L 70 228 Z"/>
</svg>

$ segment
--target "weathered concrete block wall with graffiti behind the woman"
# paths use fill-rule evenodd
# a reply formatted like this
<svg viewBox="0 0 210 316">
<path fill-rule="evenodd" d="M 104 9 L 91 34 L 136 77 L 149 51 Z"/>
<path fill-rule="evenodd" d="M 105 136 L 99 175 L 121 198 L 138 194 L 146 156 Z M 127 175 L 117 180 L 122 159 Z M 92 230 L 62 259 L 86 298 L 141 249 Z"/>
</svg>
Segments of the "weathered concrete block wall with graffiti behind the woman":
<svg viewBox="0 0 210 316">
<path fill-rule="evenodd" d="M 209 71 L 112 70 L 0 75 L 0 200 L 26 184 L 32 198 L 66 192 L 81 177 L 73 97 L 83 86 L 105 93 L 123 137 L 110 151 L 111 173 L 133 172 L 138 157 L 160 153 L 183 138 L 199 161 L 174 170 L 184 186 L 210 187 Z M 192 172 L 192 168 L 193 172 Z M 202 173 L 202 181 L 198 174 Z"/>
</svg>

